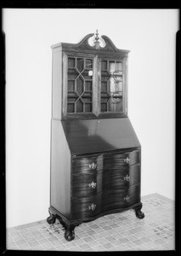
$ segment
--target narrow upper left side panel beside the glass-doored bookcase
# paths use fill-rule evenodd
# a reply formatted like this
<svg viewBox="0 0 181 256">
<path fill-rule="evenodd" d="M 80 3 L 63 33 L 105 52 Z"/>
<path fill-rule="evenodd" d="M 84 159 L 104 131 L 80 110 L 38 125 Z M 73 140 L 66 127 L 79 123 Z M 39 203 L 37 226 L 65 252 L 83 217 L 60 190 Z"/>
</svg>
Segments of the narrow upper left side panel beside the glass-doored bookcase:
<svg viewBox="0 0 181 256">
<path fill-rule="evenodd" d="M 52 69 L 52 118 L 61 119 L 61 83 L 62 83 L 62 52 L 61 48 L 53 51 Z"/>
</svg>

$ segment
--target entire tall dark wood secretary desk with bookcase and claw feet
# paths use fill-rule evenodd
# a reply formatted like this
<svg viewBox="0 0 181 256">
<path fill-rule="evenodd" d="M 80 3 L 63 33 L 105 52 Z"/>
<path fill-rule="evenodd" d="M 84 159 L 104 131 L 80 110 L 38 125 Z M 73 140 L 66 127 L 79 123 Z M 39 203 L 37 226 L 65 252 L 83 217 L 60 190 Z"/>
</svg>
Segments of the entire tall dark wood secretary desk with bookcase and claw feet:
<svg viewBox="0 0 181 256">
<path fill-rule="evenodd" d="M 55 44 L 48 224 L 75 227 L 140 202 L 141 145 L 127 116 L 128 50 L 88 34 Z"/>
</svg>

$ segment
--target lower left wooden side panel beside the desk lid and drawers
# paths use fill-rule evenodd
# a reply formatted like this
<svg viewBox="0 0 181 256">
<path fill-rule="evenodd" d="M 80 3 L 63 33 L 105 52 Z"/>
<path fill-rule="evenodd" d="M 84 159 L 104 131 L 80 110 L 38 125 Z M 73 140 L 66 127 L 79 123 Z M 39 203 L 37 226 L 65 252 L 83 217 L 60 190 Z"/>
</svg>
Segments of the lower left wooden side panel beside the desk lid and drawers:
<svg viewBox="0 0 181 256">
<path fill-rule="evenodd" d="M 52 119 L 50 204 L 65 217 L 71 214 L 71 154 L 61 121 Z"/>
</svg>

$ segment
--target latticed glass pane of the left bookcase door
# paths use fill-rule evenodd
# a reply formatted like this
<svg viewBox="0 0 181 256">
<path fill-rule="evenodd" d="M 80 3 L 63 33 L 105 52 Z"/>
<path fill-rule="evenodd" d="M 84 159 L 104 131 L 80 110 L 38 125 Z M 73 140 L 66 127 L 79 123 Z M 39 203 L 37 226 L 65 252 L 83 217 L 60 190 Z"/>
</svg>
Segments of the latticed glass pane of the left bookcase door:
<svg viewBox="0 0 181 256">
<path fill-rule="evenodd" d="M 93 112 L 93 59 L 68 57 L 67 113 Z"/>
</svg>

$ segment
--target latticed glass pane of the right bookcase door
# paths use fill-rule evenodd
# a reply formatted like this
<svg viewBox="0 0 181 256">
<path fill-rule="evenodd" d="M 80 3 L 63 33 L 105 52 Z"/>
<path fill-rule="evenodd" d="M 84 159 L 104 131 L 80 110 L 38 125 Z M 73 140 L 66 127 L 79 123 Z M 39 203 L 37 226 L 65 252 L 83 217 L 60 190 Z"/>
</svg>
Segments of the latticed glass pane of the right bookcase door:
<svg viewBox="0 0 181 256">
<path fill-rule="evenodd" d="M 122 61 L 101 60 L 101 113 L 122 113 Z"/>
</svg>

